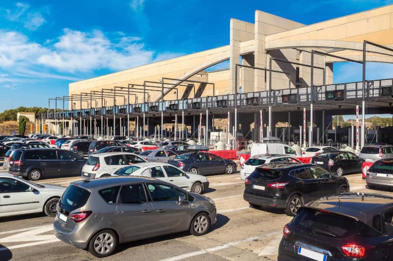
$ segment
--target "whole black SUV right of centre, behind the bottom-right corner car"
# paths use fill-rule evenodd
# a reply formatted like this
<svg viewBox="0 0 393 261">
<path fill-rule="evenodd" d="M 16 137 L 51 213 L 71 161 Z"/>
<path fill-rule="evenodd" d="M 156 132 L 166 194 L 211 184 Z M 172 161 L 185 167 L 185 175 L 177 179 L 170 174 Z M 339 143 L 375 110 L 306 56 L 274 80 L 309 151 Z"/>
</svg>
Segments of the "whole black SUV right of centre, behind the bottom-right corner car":
<svg viewBox="0 0 393 261">
<path fill-rule="evenodd" d="M 272 163 L 256 167 L 245 180 L 243 198 L 251 207 L 280 208 L 294 216 L 305 203 L 349 191 L 345 177 L 312 164 Z"/>
</svg>

